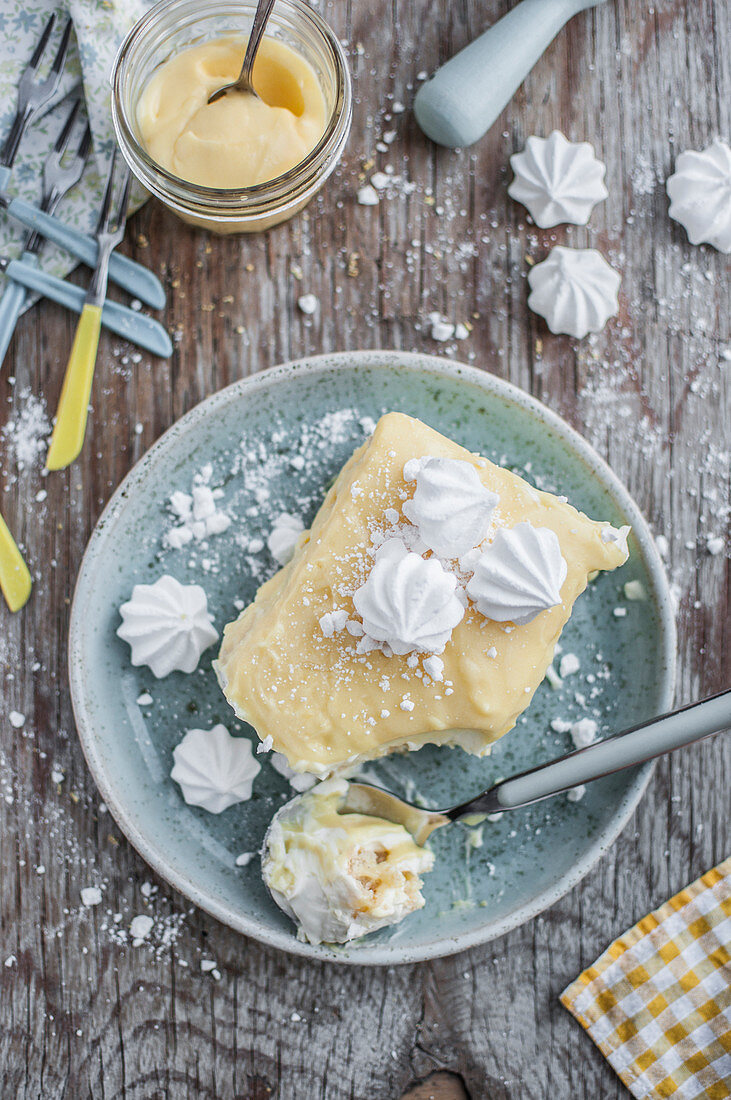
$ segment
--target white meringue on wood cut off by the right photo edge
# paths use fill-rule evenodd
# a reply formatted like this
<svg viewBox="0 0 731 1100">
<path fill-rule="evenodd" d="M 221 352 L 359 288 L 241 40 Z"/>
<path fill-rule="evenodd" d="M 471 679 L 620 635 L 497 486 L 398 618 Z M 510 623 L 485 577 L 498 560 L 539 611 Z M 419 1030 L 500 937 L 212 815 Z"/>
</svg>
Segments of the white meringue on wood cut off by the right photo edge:
<svg viewBox="0 0 731 1100">
<path fill-rule="evenodd" d="M 665 186 L 668 213 L 690 243 L 731 252 L 731 146 L 716 138 L 700 152 L 680 153 Z"/>
</svg>

